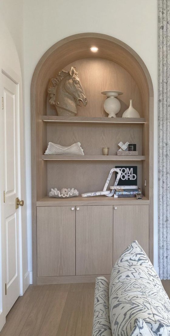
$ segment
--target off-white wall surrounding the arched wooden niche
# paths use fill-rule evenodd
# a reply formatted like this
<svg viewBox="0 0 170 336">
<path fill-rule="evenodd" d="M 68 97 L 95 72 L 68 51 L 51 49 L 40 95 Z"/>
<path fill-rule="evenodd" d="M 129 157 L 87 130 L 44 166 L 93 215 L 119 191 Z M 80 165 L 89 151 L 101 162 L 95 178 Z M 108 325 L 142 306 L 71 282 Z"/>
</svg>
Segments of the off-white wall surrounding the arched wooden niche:
<svg viewBox="0 0 170 336">
<path fill-rule="evenodd" d="M 156 0 L 24 0 L 25 139 L 29 267 L 31 261 L 31 140 L 30 85 L 34 69 L 44 52 L 64 37 L 84 32 L 114 36 L 133 48 L 144 60 L 155 93 L 154 148 L 154 265 L 158 267 L 158 155 L 157 155 L 157 1 Z"/>
</svg>

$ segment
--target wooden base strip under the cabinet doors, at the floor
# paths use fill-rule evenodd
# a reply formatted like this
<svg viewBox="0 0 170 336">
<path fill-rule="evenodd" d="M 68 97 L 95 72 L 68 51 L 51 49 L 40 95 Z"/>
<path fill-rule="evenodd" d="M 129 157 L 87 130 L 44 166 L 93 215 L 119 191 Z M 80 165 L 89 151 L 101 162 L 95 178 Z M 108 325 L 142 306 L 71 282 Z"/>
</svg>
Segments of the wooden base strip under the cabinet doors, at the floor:
<svg viewBox="0 0 170 336">
<path fill-rule="evenodd" d="M 83 282 L 95 282 L 97 277 L 105 277 L 110 280 L 110 274 L 102 275 L 72 275 L 64 277 L 38 277 L 37 285 L 52 285 L 52 284 L 76 284 Z"/>
</svg>

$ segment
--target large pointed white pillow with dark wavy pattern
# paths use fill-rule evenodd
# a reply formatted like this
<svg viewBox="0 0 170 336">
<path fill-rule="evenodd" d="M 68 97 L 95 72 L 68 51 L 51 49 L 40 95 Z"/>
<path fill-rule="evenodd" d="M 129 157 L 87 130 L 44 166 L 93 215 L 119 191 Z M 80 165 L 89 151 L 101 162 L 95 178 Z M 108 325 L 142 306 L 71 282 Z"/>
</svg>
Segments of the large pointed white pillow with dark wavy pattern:
<svg viewBox="0 0 170 336">
<path fill-rule="evenodd" d="M 112 269 L 109 305 L 114 336 L 130 336 L 136 319 L 143 320 L 154 336 L 162 335 L 159 327 L 153 329 L 156 324 L 165 326 L 170 335 L 170 300 L 137 241 L 127 247 Z"/>
</svg>

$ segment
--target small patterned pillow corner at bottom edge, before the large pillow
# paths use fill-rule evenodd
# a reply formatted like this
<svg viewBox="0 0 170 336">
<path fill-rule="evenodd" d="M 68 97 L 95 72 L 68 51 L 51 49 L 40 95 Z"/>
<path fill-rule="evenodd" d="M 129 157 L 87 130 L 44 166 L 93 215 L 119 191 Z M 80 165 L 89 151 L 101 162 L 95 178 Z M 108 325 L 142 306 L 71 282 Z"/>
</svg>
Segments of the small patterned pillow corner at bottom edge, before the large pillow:
<svg viewBox="0 0 170 336">
<path fill-rule="evenodd" d="M 151 327 L 151 329 L 150 329 Z M 134 329 L 130 336 L 169 336 L 167 328 L 161 323 L 151 325 L 142 319 L 136 319 Z"/>
</svg>

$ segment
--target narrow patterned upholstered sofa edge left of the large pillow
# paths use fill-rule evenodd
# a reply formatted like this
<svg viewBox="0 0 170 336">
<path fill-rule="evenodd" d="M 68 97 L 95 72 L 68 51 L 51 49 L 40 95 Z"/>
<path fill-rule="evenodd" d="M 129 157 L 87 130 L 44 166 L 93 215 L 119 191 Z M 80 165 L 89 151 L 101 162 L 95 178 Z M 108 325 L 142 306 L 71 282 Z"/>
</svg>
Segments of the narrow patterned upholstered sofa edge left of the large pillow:
<svg viewBox="0 0 170 336">
<path fill-rule="evenodd" d="M 112 336 L 109 317 L 109 283 L 104 277 L 96 278 L 93 336 Z"/>
</svg>

